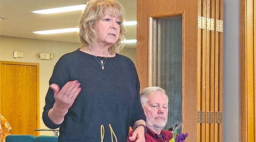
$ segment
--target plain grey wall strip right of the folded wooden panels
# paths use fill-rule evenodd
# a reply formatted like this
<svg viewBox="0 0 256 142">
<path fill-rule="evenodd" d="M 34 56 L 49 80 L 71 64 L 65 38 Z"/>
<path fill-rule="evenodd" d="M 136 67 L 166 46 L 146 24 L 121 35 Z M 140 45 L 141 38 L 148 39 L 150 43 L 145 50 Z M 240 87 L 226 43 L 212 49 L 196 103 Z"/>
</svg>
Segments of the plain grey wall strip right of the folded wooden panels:
<svg viewBox="0 0 256 142">
<path fill-rule="evenodd" d="M 224 0 L 223 142 L 241 141 L 240 0 Z"/>
</svg>

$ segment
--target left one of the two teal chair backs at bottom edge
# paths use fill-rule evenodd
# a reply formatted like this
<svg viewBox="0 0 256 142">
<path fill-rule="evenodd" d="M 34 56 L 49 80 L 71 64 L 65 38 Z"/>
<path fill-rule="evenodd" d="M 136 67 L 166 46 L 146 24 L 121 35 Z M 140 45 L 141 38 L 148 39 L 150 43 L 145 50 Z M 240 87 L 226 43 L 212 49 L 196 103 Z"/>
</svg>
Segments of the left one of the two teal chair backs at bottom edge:
<svg viewBox="0 0 256 142">
<path fill-rule="evenodd" d="M 8 135 L 6 142 L 35 142 L 34 135 Z"/>
</svg>

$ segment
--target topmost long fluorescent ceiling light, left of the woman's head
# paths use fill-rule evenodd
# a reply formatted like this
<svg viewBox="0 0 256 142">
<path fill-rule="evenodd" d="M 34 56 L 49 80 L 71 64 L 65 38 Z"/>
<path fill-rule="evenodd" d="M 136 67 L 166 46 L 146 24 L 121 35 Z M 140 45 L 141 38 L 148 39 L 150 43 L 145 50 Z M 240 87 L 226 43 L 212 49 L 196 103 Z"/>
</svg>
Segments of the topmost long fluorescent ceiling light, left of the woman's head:
<svg viewBox="0 0 256 142">
<path fill-rule="evenodd" d="M 84 10 L 86 6 L 87 4 L 81 4 L 77 6 L 57 7 L 57 8 L 51 8 L 51 9 L 36 10 L 32 12 L 40 13 L 40 14 L 51 14 L 51 13 L 60 13 L 60 12 L 67 12 L 67 11 Z"/>
</svg>

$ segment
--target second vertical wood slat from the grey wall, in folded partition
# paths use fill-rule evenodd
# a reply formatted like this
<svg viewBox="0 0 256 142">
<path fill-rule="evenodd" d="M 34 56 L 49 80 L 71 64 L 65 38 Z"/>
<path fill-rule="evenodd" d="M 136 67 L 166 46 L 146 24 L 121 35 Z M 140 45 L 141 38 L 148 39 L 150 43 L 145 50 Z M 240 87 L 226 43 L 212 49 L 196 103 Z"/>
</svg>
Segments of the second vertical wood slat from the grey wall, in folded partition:
<svg viewBox="0 0 256 142">
<path fill-rule="evenodd" d="M 216 20 L 218 19 L 219 19 L 219 0 L 215 0 L 215 25 L 216 25 Z M 218 45 L 219 45 L 218 39 L 219 39 L 219 32 L 216 31 L 216 26 L 215 26 L 215 86 L 214 86 L 215 108 L 214 108 L 214 112 L 218 112 Z M 214 142 L 218 142 L 218 123 L 214 123 Z"/>
</svg>

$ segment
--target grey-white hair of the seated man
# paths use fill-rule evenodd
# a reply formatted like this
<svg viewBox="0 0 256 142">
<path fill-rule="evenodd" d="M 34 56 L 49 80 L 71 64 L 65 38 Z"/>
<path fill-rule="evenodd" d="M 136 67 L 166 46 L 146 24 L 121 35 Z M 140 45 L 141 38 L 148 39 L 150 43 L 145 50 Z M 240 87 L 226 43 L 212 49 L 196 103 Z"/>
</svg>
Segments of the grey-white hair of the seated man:
<svg viewBox="0 0 256 142">
<path fill-rule="evenodd" d="M 167 103 L 169 103 L 169 99 L 168 99 L 168 95 L 166 94 L 166 91 L 158 86 L 152 86 L 152 87 L 147 87 L 145 89 L 143 89 L 140 93 L 140 98 L 141 98 L 141 105 L 144 107 L 146 102 L 148 101 L 148 96 L 149 94 L 153 93 L 153 92 L 162 92 L 164 93 L 164 95 L 166 96 L 166 101 Z"/>
</svg>

